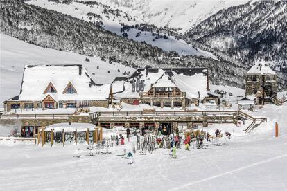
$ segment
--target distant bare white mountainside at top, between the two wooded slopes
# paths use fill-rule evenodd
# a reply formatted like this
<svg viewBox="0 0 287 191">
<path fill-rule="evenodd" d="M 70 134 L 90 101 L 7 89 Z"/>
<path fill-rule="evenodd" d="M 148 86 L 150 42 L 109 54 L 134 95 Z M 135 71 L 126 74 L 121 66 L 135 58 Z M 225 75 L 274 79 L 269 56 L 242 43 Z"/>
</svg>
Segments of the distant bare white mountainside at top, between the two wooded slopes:
<svg viewBox="0 0 287 191">
<path fill-rule="evenodd" d="M 85 0 L 87 1 L 87 0 Z M 119 8 L 129 15 L 137 15 L 155 26 L 169 26 L 185 33 L 219 10 L 238 6 L 250 0 L 94 0 L 112 8 Z"/>
</svg>

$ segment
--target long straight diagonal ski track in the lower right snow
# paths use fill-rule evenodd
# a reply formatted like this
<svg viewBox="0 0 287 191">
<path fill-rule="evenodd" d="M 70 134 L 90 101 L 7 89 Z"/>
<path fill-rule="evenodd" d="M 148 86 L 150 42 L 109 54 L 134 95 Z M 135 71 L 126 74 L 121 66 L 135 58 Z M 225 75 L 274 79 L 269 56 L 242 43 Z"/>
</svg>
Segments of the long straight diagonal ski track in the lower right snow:
<svg viewBox="0 0 287 191">
<path fill-rule="evenodd" d="M 273 158 L 269 158 L 269 159 L 266 159 L 264 161 L 260 161 L 258 163 L 252 163 L 251 165 L 247 165 L 245 167 L 239 167 L 239 168 L 236 168 L 234 170 L 230 170 L 228 172 L 224 172 L 224 173 L 221 173 L 221 174 L 218 174 L 218 175 L 215 175 L 215 176 L 210 176 L 209 178 L 206 178 L 206 179 L 201 179 L 201 180 L 198 180 L 198 181 L 193 181 L 191 183 L 186 183 L 185 185 L 182 185 L 180 187 L 177 187 L 177 188 L 173 188 L 172 190 L 180 190 L 182 188 L 186 188 L 188 187 L 189 185 L 193 185 L 193 184 L 196 184 L 196 183 L 201 183 L 201 182 L 205 182 L 205 181 L 209 181 L 211 179 L 217 179 L 218 177 L 220 176 L 224 176 L 224 175 L 227 175 L 227 174 L 233 174 L 233 172 L 238 172 L 238 171 L 241 171 L 241 170 L 245 170 L 247 168 L 250 168 L 250 167 L 254 167 L 256 165 L 262 165 L 264 163 L 268 163 L 270 161 L 274 161 L 276 159 L 279 159 L 279 158 L 284 158 L 284 157 L 287 157 L 287 154 L 284 154 L 284 155 L 280 155 L 280 156 L 275 156 Z M 234 175 L 234 174 L 233 174 Z M 236 178 L 238 179 L 238 178 Z M 242 182 L 242 181 L 241 181 Z"/>
</svg>

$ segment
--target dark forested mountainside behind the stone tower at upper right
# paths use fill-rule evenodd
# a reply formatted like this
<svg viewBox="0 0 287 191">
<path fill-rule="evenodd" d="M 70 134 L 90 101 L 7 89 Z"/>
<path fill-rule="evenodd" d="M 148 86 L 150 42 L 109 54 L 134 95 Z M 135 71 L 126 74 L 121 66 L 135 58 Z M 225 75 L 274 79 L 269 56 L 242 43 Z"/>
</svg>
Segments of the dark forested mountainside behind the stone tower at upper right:
<svg viewBox="0 0 287 191">
<path fill-rule="evenodd" d="M 287 1 L 250 1 L 220 10 L 186 36 L 247 67 L 257 60 L 272 63 L 287 87 Z"/>
</svg>

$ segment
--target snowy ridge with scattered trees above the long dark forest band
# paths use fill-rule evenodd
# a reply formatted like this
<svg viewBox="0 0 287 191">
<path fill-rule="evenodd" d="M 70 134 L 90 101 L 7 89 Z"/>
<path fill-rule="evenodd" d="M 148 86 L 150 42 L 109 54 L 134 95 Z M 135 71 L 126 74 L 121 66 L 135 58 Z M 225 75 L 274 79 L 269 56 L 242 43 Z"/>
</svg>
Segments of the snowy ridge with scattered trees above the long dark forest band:
<svg viewBox="0 0 287 191">
<path fill-rule="evenodd" d="M 195 55 L 217 58 L 207 51 L 195 48 L 186 44 L 184 40 L 171 35 L 170 31 L 160 31 L 155 26 L 146 26 L 143 19 L 137 16 L 130 16 L 127 12 L 119 9 L 113 9 L 96 1 L 70 1 L 61 3 L 61 1 L 32 0 L 26 1 L 28 4 L 40 6 L 42 8 L 62 12 L 84 21 L 100 24 L 105 30 L 112 33 L 133 39 L 137 42 L 146 42 L 152 46 L 157 46 L 164 51 L 175 51 L 178 55 Z M 147 31 L 148 30 L 148 31 Z"/>
</svg>

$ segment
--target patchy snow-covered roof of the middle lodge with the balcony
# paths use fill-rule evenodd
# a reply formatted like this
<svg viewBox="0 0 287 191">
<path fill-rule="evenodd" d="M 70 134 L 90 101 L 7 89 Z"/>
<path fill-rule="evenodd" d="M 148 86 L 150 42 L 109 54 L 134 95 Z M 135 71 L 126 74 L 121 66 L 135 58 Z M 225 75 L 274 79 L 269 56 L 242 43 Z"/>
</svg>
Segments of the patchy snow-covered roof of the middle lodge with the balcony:
<svg viewBox="0 0 287 191">
<path fill-rule="evenodd" d="M 186 92 L 187 98 L 198 98 L 198 92 L 201 98 L 207 96 L 207 68 L 146 68 L 137 69 L 123 83 L 121 91 L 114 93 L 114 98 L 138 98 L 139 93 L 132 91 L 132 82 L 137 78 L 143 80 L 143 92 L 149 91 L 151 87 L 177 87 Z"/>
</svg>

